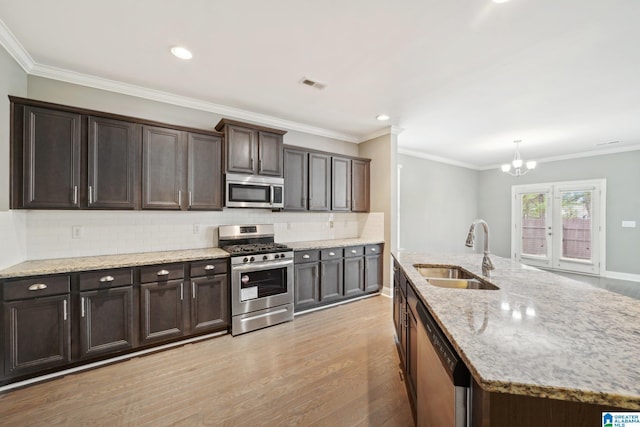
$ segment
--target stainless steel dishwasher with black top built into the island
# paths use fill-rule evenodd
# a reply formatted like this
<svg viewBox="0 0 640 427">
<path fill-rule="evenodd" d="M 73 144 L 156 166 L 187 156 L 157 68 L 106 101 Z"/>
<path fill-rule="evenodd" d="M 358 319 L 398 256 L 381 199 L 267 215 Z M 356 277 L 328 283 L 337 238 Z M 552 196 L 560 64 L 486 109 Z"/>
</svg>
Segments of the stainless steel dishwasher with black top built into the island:
<svg viewBox="0 0 640 427">
<path fill-rule="evenodd" d="M 419 301 L 418 427 L 469 427 L 471 375 L 424 304 Z"/>
</svg>

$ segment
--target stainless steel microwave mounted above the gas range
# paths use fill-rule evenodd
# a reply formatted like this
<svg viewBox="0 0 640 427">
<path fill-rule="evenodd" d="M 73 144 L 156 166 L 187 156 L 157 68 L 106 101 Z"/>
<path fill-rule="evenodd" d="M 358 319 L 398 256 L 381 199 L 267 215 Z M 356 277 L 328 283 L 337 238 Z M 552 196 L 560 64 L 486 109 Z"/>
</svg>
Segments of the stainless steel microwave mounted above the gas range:
<svg viewBox="0 0 640 427">
<path fill-rule="evenodd" d="M 228 173 L 225 175 L 225 206 L 284 208 L 284 179 Z"/>
</svg>

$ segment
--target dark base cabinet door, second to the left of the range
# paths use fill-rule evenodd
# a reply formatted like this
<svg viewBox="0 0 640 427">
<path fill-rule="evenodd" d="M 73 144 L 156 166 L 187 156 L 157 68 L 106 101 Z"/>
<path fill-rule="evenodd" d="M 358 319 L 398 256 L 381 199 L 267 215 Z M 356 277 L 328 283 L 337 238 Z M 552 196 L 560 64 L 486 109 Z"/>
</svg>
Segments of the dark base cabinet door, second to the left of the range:
<svg viewBox="0 0 640 427">
<path fill-rule="evenodd" d="M 143 344 L 180 337 L 184 334 L 182 280 L 140 285 L 141 342 Z"/>
</svg>

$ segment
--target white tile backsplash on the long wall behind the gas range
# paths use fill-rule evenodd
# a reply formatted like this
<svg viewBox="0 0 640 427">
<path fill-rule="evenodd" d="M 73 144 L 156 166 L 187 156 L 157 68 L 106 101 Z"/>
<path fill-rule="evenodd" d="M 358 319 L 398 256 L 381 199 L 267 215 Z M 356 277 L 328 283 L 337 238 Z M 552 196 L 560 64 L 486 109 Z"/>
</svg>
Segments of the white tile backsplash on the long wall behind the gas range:
<svg viewBox="0 0 640 427">
<path fill-rule="evenodd" d="M 217 246 L 223 224 L 275 225 L 277 242 L 384 239 L 382 213 L 27 211 L 26 259 L 65 258 Z"/>
</svg>

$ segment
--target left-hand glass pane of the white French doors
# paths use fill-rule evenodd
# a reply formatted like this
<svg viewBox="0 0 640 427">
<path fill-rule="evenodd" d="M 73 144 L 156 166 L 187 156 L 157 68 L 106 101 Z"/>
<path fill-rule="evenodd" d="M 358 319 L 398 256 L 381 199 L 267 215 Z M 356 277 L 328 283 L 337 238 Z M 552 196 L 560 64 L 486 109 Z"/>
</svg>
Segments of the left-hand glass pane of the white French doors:
<svg viewBox="0 0 640 427">
<path fill-rule="evenodd" d="M 522 254 L 547 255 L 547 194 L 522 194 Z"/>
</svg>

